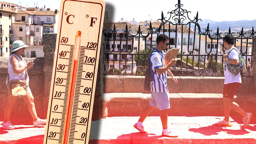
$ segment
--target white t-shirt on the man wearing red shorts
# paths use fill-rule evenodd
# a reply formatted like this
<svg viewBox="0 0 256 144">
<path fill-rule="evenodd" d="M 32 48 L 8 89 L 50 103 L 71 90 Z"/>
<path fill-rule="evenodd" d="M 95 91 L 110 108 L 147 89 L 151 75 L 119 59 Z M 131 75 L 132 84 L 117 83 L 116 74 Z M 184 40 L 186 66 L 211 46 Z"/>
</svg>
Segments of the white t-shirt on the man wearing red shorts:
<svg viewBox="0 0 256 144">
<path fill-rule="evenodd" d="M 228 54 L 229 59 L 238 59 L 239 60 L 238 50 L 236 47 L 230 48 L 227 52 L 229 52 L 229 51 L 230 51 L 230 53 Z M 224 84 L 235 83 L 235 82 L 242 83 L 240 73 L 238 75 L 233 75 L 231 72 L 229 72 L 227 69 L 227 62 L 225 62 L 225 67 L 226 67 L 226 70 L 224 68 L 224 76 L 225 76 Z"/>
</svg>

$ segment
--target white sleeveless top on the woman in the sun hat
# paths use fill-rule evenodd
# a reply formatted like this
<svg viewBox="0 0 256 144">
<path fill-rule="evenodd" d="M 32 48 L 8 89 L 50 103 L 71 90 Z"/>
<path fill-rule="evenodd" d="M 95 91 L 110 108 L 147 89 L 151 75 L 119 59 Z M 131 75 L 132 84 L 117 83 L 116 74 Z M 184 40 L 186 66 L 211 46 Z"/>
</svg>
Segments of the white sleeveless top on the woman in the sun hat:
<svg viewBox="0 0 256 144">
<path fill-rule="evenodd" d="M 16 56 L 15 54 L 12 54 L 10 57 L 9 57 L 9 59 L 8 59 L 8 73 L 9 73 L 9 81 L 11 81 L 11 80 L 25 80 L 25 70 L 23 71 L 23 72 L 21 72 L 20 74 L 15 74 L 14 72 L 13 72 L 13 69 L 12 69 L 12 64 L 11 64 L 11 62 L 10 62 L 10 58 L 12 57 L 12 56 Z M 19 67 L 23 67 L 24 65 L 25 65 L 25 63 L 24 63 L 24 61 L 22 61 L 23 60 L 23 58 L 22 58 L 22 60 L 18 57 L 18 56 L 16 56 L 17 58 L 18 58 L 18 60 L 19 60 Z M 27 74 L 27 86 L 29 86 L 29 75 L 28 75 L 28 72 L 27 72 L 27 69 L 26 69 L 26 74 Z M 6 84 L 8 83 L 8 77 L 7 77 L 7 80 L 6 80 Z"/>
</svg>

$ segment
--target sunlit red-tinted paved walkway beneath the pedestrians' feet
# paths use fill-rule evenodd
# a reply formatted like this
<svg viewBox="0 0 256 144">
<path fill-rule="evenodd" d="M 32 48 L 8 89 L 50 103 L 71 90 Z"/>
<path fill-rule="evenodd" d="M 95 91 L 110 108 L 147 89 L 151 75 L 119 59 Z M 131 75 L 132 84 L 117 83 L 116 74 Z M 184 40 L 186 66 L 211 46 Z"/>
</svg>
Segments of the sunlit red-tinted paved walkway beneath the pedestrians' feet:
<svg viewBox="0 0 256 144">
<path fill-rule="evenodd" d="M 146 118 L 143 125 L 148 133 L 141 134 L 133 127 L 138 119 L 138 116 L 108 117 L 92 121 L 90 144 L 256 143 L 255 116 L 246 129 L 243 128 L 243 121 L 239 116 L 231 117 L 231 127 L 215 125 L 223 116 L 169 116 L 168 126 L 179 135 L 177 138 L 162 137 L 161 120 L 155 116 Z M 0 128 L 0 144 L 43 144 L 45 126 L 33 127 L 32 121 L 28 120 L 13 120 L 12 123 L 16 129 Z"/>
</svg>

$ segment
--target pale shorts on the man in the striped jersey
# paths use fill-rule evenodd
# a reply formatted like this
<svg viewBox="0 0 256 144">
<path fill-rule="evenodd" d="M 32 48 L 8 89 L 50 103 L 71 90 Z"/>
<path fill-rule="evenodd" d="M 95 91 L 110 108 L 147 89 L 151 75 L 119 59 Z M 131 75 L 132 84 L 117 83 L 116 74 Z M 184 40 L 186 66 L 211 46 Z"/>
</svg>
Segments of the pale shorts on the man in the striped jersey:
<svg viewBox="0 0 256 144">
<path fill-rule="evenodd" d="M 151 91 L 151 101 L 149 103 L 152 107 L 158 107 L 159 110 L 170 108 L 169 92 L 155 92 Z"/>
</svg>

